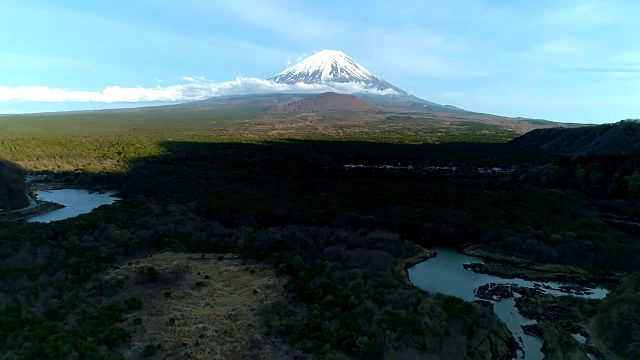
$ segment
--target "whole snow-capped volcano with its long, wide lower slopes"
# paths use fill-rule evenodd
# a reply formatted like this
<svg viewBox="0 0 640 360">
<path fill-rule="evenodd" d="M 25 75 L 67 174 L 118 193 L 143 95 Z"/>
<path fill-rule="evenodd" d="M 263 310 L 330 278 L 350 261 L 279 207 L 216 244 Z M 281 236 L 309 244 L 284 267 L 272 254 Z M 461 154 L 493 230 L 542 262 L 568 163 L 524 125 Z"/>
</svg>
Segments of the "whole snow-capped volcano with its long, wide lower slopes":
<svg viewBox="0 0 640 360">
<path fill-rule="evenodd" d="M 508 131 L 525 132 L 555 126 L 544 120 L 509 118 L 441 105 L 410 95 L 358 64 L 337 50 L 317 52 L 268 78 L 237 78 L 224 83 L 195 80 L 195 92 L 221 91 L 228 94 L 202 100 L 108 112 L 222 111 L 243 119 L 282 119 L 314 114 L 344 114 L 347 119 L 375 121 L 429 121 L 443 127 L 462 126 L 460 122 L 482 123 Z M 235 92 L 237 91 L 237 92 Z M 206 115 L 203 115 L 206 116 Z M 306 116 L 306 115 L 305 115 Z M 305 119 L 304 116 L 299 119 Z M 358 120 L 360 119 L 360 120 Z M 394 120 L 396 119 L 396 120 Z M 454 124 L 454 125 L 452 125 Z M 456 125 L 457 124 L 457 125 Z"/>
</svg>

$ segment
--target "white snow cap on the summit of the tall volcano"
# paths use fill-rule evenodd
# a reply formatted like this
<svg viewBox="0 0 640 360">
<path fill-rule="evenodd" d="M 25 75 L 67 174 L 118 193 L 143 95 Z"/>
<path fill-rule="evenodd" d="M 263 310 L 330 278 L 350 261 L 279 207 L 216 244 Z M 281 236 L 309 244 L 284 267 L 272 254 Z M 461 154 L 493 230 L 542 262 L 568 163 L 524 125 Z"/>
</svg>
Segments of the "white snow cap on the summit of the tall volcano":
<svg viewBox="0 0 640 360">
<path fill-rule="evenodd" d="M 404 91 L 377 77 L 347 54 L 338 50 L 322 50 L 276 74 L 269 80 L 283 84 L 360 83 L 368 88 Z"/>
</svg>

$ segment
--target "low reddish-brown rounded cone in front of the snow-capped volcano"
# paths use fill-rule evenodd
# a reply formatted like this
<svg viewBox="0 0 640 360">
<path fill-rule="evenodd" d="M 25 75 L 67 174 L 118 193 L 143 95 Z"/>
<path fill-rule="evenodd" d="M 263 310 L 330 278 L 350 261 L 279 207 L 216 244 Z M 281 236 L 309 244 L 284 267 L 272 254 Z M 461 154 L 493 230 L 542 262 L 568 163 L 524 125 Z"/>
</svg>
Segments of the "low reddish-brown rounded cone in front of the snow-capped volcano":
<svg viewBox="0 0 640 360">
<path fill-rule="evenodd" d="M 336 112 L 361 112 L 377 109 L 377 106 L 369 101 L 354 95 L 336 94 L 326 92 L 318 95 L 294 101 L 280 107 L 279 112 L 284 113 L 321 113 Z"/>
</svg>

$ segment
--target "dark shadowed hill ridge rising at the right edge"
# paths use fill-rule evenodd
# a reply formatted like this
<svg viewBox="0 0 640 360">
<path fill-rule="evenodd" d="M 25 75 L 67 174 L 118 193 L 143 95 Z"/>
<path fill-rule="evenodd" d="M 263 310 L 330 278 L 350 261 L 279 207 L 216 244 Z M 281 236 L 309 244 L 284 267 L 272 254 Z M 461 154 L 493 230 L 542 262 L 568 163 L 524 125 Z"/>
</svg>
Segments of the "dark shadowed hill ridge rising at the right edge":
<svg viewBox="0 0 640 360">
<path fill-rule="evenodd" d="M 550 128 L 531 131 L 511 141 L 515 146 L 561 154 L 621 154 L 640 152 L 640 121 Z"/>
</svg>

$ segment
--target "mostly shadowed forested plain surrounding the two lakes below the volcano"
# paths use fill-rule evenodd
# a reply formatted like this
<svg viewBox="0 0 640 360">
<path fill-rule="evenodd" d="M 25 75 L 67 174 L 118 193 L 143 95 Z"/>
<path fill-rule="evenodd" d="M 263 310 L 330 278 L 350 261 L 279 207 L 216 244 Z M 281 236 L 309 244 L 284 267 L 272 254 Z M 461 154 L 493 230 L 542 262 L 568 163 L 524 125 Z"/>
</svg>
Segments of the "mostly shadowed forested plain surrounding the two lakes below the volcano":
<svg viewBox="0 0 640 360">
<path fill-rule="evenodd" d="M 435 244 L 614 279 L 567 326 L 588 324 L 610 357 L 638 357 L 635 155 L 621 155 L 620 188 L 606 192 L 591 175 L 608 176 L 604 165 L 583 166 L 581 188 L 580 157 L 519 150 L 493 125 L 234 116 L 100 115 L 66 133 L 7 120 L 18 125 L 0 135 L 1 157 L 124 201 L 0 222 L 6 358 L 510 359 L 491 309 L 407 284 L 404 266 Z M 474 141 L 478 130 L 494 143 Z"/>
</svg>

